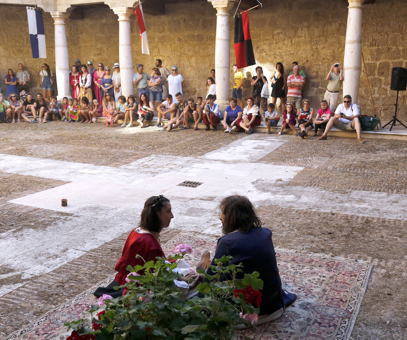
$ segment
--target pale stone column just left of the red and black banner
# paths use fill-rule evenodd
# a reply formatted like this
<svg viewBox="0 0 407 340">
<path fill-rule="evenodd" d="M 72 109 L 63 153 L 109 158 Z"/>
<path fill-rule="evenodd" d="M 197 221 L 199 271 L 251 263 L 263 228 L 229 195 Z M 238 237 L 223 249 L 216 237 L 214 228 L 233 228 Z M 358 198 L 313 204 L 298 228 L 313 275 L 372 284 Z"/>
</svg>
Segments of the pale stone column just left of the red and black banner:
<svg viewBox="0 0 407 340">
<path fill-rule="evenodd" d="M 234 0 L 208 1 L 217 10 L 215 42 L 216 102 L 223 108 L 229 105 L 230 97 L 229 10 L 232 8 Z"/>
</svg>

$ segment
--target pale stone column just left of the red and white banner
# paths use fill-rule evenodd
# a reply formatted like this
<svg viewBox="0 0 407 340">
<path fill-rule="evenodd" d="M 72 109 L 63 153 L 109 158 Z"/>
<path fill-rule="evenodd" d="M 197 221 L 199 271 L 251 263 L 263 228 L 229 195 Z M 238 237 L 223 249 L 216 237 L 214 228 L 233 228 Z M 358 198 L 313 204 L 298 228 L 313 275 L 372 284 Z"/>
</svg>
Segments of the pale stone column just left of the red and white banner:
<svg viewBox="0 0 407 340">
<path fill-rule="evenodd" d="M 133 94 L 133 49 L 130 36 L 130 15 L 134 13 L 134 9 L 115 7 L 113 12 L 119 17 L 120 83 L 122 94 L 127 98 Z"/>
</svg>

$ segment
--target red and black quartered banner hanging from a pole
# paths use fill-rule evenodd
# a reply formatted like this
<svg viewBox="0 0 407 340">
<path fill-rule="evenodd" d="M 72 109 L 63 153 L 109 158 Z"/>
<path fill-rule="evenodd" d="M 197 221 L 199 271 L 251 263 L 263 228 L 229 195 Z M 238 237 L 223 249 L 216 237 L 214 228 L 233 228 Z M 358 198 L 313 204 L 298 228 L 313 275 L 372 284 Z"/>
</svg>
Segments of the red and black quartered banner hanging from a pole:
<svg viewBox="0 0 407 340">
<path fill-rule="evenodd" d="M 254 52 L 252 37 L 250 37 L 249 15 L 247 11 L 234 18 L 234 53 L 236 54 L 237 68 L 254 65 Z"/>
</svg>

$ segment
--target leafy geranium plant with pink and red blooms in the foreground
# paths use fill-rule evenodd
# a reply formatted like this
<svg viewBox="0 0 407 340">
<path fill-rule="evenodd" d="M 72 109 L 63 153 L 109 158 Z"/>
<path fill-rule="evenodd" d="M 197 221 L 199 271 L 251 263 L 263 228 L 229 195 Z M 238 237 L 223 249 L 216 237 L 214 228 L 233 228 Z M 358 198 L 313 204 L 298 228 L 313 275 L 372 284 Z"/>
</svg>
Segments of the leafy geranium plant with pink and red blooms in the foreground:
<svg viewBox="0 0 407 340">
<path fill-rule="evenodd" d="M 179 274 L 172 270 L 192 249 L 183 244 L 175 251 L 171 259 L 158 257 L 144 266 L 128 266 L 130 274 L 122 286 L 127 294 L 116 299 L 102 296 L 97 305 L 92 305 L 90 313 L 105 306 L 92 319 L 92 329 L 85 327 L 85 319 L 66 323 L 73 330 L 68 339 L 229 339 L 236 336 L 238 325 L 251 325 L 257 320 L 258 309 L 254 306 L 259 307 L 259 290 L 263 288 L 258 272 L 243 275 L 242 264 L 230 264 L 232 257 L 215 259 L 215 265 L 210 266 L 215 275 L 198 271 L 207 279 L 196 288 L 204 297 L 184 301 L 185 290 L 174 283 Z"/>
</svg>

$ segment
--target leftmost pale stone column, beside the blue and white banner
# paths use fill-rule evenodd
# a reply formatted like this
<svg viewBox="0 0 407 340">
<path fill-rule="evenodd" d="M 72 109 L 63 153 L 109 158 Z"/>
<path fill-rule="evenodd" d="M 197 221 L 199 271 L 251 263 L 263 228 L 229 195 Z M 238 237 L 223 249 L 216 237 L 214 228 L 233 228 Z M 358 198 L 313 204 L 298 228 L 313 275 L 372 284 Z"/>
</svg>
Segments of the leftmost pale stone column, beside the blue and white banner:
<svg viewBox="0 0 407 340">
<path fill-rule="evenodd" d="M 55 28 L 55 78 L 57 80 L 58 100 L 63 97 L 72 98 L 69 90 L 69 58 L 66 43 L 65 20 L 69 14 L 63 12 L 50 12 L 54 18 Z"/>
</svg>

